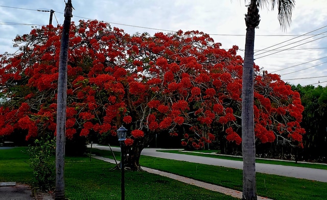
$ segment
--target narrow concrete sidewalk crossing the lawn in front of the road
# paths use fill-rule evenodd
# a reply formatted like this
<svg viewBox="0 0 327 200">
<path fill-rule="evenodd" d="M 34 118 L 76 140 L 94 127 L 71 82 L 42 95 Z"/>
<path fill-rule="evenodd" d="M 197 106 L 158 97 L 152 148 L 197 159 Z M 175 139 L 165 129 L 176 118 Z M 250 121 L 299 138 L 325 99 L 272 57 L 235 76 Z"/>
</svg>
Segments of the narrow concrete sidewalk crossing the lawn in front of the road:
<svg viewBox="0 0 327 200">
<path fill-rule="evenodd" d="M 105 162 L 108 162 L 108 163 L 116 164 L 113 159 L 108 159 L 108 158 L 100 157 L 100 156 L 97 156 L 97 155 L 92 156 L 92 158 L 99 159 L 99 160 L 102 160 L 102 161 L 105 161 Z M 226 195 L 230 195 L 232 197 L 236 197 L 236 198 L 240 198 L 240 199 L 242 198 L 242 192 L 237 191 L 237 190 L 232 190 L 232 189 L 229 189 L 229 188 L 224 188 L 224 187 L 221 187 L 221 186 L 204 183 L 204 182 L 201 182 L 201 181 L 190 179 L 188 177 L 183 177 L 183 176 L 176 175 L 176 174 L 173 174 L 173 173 L 168 173 L 168 172 L 159 171 L 159 170 L 156 170 L 156 169 L 151 169 L 151 168 L 148 168 L 148 167 L 142 167 L 142 169 L 149 172 L 149 173 L 169 177 L 170 179 L 174 179 L 174 180 L 186 183 L 186 184 L 190 184 L 190 185 L 194 185 L 194 186 L 197 186 L 197 187 L 205 188 L 207 190 L 212 190 L 212 191 L 215 191 L 215 192 L 220 192 L 220 193 L 223 193 L 223 194 L 226 194 Z M 272 200 L 270 198 L 266 198 L 266 197 L 262 197 L 262 196 L 258 196 L 258 199 Z"/>
</svg>

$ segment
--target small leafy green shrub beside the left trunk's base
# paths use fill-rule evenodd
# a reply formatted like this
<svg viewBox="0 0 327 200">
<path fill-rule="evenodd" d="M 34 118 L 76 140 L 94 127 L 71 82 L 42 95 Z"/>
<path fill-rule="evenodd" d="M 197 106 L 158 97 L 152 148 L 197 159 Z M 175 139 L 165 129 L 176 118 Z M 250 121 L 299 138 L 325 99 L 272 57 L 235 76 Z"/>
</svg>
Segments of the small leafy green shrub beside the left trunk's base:
<svg viewBox="0 0 327 200">
<path fill-rule="evenodd" d="M 34 186 L 42 190 L 51 190 L 55 186 L 55 162 L 53 155 L 56 151 L 55 138 L 36 139 L 27 153 L 30 155 L 30 166 L 33 168 Z"/>
</svg>

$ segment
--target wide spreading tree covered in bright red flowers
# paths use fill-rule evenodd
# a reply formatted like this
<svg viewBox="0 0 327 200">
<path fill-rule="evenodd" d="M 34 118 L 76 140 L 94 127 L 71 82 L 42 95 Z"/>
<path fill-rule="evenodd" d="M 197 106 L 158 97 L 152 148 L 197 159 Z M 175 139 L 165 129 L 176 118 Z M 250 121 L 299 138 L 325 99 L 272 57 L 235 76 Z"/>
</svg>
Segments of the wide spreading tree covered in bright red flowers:
<svg viewBox="0 0 327 200">
<path fill-rule="evenodd" d="M 27 139 L 55 132 L 62 27 L 17 36 L 20 53 L 2 55 L 0 134 L 28 130 Z M 207 34 L 178 31 L 128 35 L 99 21 L 71 26 L 68 55 L 66 137 L 90 132 L 116 135 L 124 125 L 127 166 L 139 169 L 142 149 L 155 133 L 183 134 L 198 149 L 217 132 L 240 144 L 243 60 L 238 47 L 220 49 Z M 259 67 L 255 66 L 256 73 Z M 267 74 L 255 78 L 255 132 L 301 145 L 298 93 Z"/>
</svg>

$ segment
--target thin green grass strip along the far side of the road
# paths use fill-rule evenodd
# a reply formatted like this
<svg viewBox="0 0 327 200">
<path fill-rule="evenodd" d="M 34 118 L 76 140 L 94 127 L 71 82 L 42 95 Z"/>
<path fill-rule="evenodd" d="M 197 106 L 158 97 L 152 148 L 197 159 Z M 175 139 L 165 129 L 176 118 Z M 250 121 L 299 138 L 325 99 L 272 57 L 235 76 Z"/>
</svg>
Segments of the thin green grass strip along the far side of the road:
<svg viewBox="0 0 327 200">
<path fill-rule="evenodd" d="M 239 157 L 231 157 L 228 155 L 218 155 L 218 154 L 204 154 L 214 152 L 213 150 L 201 150 L 195 152 L 183 152 L 179 150 L 160 150 L 161 152 L 168 153 L 179 153 L 179 154 L 187 154 L 187 155 L 197 155 L 201 157 L 209 157 L 209 158 L 218 158 L 218 159 L 226 159 L 233 161 L 242 161 L 242 158 Z M 203 153 L 198 153 L 203 152 Z M 255 159 L 256 163 L 265 163 L 265 164 L 273 164 L 273 165 L 286 165 L 286 166 L 294 166 L 294 167 L 309 167 L 315 169 L 326 169 L 327 165 L 316 164 L 316 163 L 295 163 L 295 161 L 276 161 L 276 160 L 266 160 L 266 159 Z"/>
</svg>

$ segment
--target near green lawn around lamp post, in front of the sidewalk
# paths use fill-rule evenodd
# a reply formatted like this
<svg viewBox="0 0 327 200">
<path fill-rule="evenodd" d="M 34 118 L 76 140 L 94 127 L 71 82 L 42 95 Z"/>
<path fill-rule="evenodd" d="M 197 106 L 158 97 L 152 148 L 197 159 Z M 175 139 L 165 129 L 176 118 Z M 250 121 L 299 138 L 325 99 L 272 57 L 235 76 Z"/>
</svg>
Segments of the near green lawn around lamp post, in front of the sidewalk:
<svg viewBox="0 0 327 200">
<path fill-rule="evenodd" d="M 24 147 L 0 150 L 0 182 L 32 183 L 32 169 Z M 88 157 L 66 157 L 66 197 L 121 199 L 121 172 L 113 164 Z M 218 192 L 147 173 L 125 173 L 126 199 L 236 199 Z"/>
</svg>

